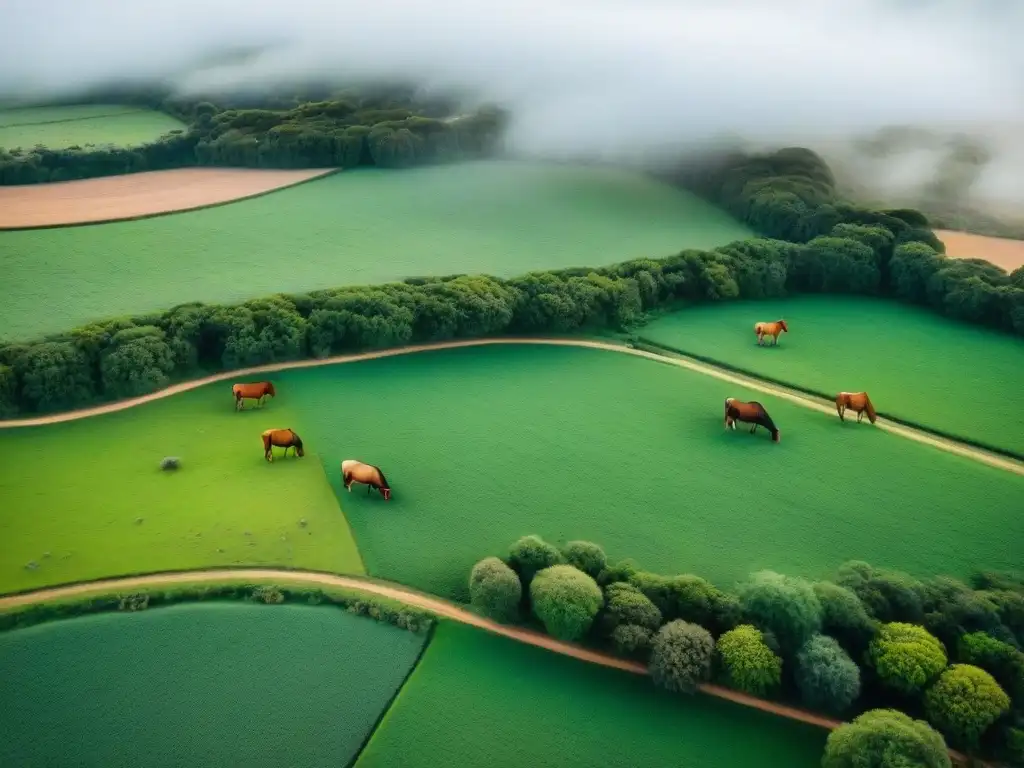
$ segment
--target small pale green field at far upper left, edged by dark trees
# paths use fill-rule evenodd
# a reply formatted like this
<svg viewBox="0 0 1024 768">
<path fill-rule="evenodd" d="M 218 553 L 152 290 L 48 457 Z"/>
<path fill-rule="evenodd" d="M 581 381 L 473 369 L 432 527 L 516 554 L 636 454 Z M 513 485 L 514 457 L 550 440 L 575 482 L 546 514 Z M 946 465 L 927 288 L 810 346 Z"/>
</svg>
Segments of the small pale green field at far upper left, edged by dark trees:
<svg viewBox="0 0 1024 768">
<path fill-rule="evenodd" d="M 85 144 L 130 146 L 153 141 L 184 125 L 162 112 L 88 104 L 0 112 L 0 148 L 50 150 Z"/>
</svg>

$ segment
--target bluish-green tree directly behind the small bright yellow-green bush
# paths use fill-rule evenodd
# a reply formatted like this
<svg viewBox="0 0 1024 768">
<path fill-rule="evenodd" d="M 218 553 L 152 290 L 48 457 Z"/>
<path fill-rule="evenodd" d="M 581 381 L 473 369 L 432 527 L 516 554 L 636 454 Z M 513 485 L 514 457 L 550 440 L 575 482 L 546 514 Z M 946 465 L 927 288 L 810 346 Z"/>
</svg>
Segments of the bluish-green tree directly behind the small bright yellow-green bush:
<svg viewBox="0 0 1024 768">
<path fill-rule="evenodd" d="M 821 603 L 802 579 L 762 570 L 740 587 L 739 604 L 756 625 L 775 636 L 785 653 L 796 652 L 821 629 Z"/>
</svg>

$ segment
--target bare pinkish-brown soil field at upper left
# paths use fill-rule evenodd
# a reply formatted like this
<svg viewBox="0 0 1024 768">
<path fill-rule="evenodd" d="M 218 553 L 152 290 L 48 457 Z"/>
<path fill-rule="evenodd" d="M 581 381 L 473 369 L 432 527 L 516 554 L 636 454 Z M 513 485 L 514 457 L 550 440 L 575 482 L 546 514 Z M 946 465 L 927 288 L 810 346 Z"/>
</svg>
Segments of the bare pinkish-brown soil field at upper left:
<svg viewBox="0 0 1024 768">
<path fill-rule="evenodd" d="M 0 229 L 153 216 L 229 203 L 330 173 L 250 168 L 177 168 L 126 176 L 0 186 Z"/>
</svg>

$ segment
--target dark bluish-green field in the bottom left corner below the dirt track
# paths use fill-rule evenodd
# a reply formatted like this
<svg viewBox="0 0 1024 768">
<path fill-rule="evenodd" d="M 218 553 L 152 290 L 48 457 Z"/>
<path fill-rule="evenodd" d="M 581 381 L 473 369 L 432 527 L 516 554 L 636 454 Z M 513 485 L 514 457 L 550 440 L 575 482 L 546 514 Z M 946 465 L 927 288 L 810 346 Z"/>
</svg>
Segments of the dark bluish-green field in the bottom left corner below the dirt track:
<svg viewBox="0 0 1024 768">
<path fill-rule="evenodd" d="M 180 605 L 0 635 L 0 765 L 344 766 L 425 636 L 342 610 Z"/>
</svg>

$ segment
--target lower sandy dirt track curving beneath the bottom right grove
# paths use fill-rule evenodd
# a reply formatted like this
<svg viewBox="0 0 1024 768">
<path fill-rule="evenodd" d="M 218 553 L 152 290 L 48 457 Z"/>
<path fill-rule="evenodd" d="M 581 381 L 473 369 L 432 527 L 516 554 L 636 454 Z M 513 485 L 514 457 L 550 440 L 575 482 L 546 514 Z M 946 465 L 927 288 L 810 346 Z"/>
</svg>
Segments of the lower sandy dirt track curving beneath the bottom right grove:
<svg viewBox="0 0 1024 768">
<path fill-rule="evenodd" d="M 532 645 L 538 648 L 544 648 L 545 650 L 549 650 L 563 656 L 569 656 L 570 658 L 575 658 L 581 662 L 606 667 L 608 669 L 620 670 L 622 672 L 629 672 L 631 674 L 641 675 L 644 677 L 649 675 L 647 667 L 639 662 L 618 658 L 607 653 L 585 648 L 584 646 L 577 645 L 575 643 L 567 643 L 562 640 L 556 640 L 550 635 L 545 635 L 524 627 L 499 624 L 489 618 L 473 613 L 472 611 L 449 600 L 428 595 L 423 592 L 418 592 L 401 585 L 381 580 L 341 575 L 339 573 L 328 573 L 326 571 L 317 570 L 246 567 L 204 568 L 201 570 L 176 570 L 148 573 L 144 575 L 102 579 L 94 582 L 65 585 L 62 587 L 46 587 L 33 592 L 23 592 L 16 595 L 0 597 L 0 610 L 9 610 L 10 608 L 33 605 L 36 603 L 47 602 L 49 600 L 59 600 L 68 597 L 85 597 L 87 595 L 94 596 L 94 593 L 102 594 L 111 591 L 141 589 L 146 587 L 159 587 L 196 582 L 213 584 L 217 582 L 237 582 L 240 580 L 258 582 L 272 581 L 281 586 L 286 586 L 288 584 L 317 585 L 323 587 L 347 589 L 355 592 L 365 592 L 420 608 L 421 610 L 433 613 L 435 616 L 441 618 L 459 622 L 460 624 L 474 627 L 476 629 L 483 630 L 484 632 L 489 632 L 490 634 L 508 638 L 515 642 Z M 424 643 L 424 648 L 426 648 L 427 644 L 428 643 Z M 796 707 L 790 707 L 788 705 L 768 701 L 763 698 L 758 698 L 757 696 L 732 690 L 731 688 L 715 685 L 714 683 L 700 683 L 697 685 L 697 690 L 709 696 L 714 696 L 715 698 L 732 701 L 733 703 L 741 707 L 759 710 L 760 712 L 764 712 L 769 715 L 775 715 L 777 717 L 786 718 L 788 720 L 801 722 L 805 725 L 812 725 L 817 728 L 823 728 L 825 730 L 835 730 L 839 726 L 843 725 L 843 722 L 840 720 L 835 720 L 833 718 L 808 712 L 806 710 L 801 710 Z M 966 758 L 954 750 L 949 750 L 949 755 L 957 762 L 966 762 Z"/>
</svg>

